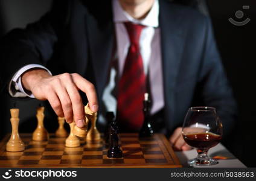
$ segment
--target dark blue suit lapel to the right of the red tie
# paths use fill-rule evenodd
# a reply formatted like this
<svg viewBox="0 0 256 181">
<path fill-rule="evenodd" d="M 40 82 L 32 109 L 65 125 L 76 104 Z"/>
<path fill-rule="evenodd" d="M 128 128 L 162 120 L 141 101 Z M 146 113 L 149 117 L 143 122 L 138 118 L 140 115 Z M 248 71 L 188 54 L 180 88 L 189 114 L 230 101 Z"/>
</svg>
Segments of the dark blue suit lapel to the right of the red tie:
<svg viewBox="0 0 256 181">
<path fill-rule="evenodd" d="M 184 47 L 184 35 L 179 25 L 179 13 L 173 4 L 159 1 L 159 26 L 161 28 L 161 53 L 164 77 L 165 119 L 174 119 L 175 98 L 174 86 L 176 84 Z M 167 121 L 172 127 L 173 121 Z"/>
</svg>

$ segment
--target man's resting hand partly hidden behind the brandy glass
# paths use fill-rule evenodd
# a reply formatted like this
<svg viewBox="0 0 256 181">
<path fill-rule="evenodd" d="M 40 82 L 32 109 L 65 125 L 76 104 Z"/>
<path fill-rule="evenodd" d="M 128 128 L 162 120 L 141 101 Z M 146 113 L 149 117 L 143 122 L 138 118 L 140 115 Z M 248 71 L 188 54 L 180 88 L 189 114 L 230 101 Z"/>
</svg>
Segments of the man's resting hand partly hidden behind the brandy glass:
<svg viewBox="0 0 256 181">
<path fill-rule="evenodd" d="M 174 130 L 173 135 L 170 136 L 170 142 L 174 150 L 186 151 L 191 150 L 190 145 L 186 144 L 182 137 L 182 127 L 178 127 Z"/>
</svg>

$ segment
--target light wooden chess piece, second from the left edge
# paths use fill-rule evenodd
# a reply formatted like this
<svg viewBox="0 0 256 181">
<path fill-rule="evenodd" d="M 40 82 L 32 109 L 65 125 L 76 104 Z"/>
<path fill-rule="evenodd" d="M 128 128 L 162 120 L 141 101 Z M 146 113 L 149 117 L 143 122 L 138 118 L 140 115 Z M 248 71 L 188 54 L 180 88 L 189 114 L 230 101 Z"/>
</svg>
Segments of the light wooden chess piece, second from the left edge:
<svg viewBox="0 0 256 181">
<path fill-rule="evenodd" d="M 32 139 L 33 141 L 47 141 L 49 139 L 49 133 L 43 126 L 43 119 L 45 115 L 43 114 L 43 111 L 45 110 L 45 107 L 37 107 L 36 110 L 36 118 L 37 118 L 37 127 L 36 130 L 33 132 Z"/>
</svg>

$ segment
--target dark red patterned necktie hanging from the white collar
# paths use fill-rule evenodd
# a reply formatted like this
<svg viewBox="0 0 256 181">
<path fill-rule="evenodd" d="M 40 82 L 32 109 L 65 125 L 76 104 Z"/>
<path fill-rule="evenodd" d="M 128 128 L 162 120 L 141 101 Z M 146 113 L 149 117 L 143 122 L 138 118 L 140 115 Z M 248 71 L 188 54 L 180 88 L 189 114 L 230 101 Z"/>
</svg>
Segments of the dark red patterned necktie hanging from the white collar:
<svg viewBox="0 0 256 181">
<path fill-rule="evenodd" d="M 138 131 L 143 123 L 146 75 L 139 51 L 139 37 L 144 26 L 125 22 L 130 47 L 118 84 L 117 112 L 121 130 Z"/>
</svg>

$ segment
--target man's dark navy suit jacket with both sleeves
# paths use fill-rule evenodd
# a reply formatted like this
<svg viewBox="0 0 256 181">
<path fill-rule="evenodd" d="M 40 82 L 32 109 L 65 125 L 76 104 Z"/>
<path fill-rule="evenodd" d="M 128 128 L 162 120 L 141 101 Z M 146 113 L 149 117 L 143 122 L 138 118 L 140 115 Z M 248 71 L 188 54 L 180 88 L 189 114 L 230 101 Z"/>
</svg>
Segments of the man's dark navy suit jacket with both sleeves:
<svg viewBox="0 0 256 181">
<path fill-rule="evenodd" d="M 110 1 L 56 1 L 40 21 L 13 30 L 1 47 L 1 77 L 8 84 L 22 66 L 38 63 L 53 74 L 77 72 L 92 81 L 99 100 L 115 46 Z M 217 108 L 224 133 L 231 130 L 235 101 L 217 51 L 210 20 L 188 7 L 159 1 L 164 120 L 170 133 L 191 106 Z"/>
</svg>

